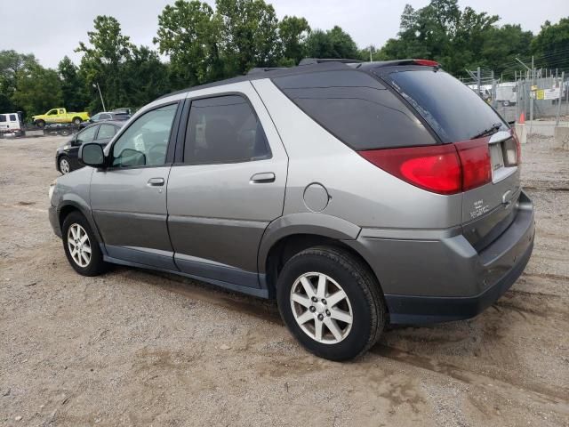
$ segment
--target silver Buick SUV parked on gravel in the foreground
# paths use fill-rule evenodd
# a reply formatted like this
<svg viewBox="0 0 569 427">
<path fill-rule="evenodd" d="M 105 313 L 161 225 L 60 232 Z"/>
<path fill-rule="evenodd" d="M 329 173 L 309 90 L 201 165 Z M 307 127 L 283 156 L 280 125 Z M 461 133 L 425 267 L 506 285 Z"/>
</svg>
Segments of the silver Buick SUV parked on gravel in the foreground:
<svg viewBox="0 0 569 427">
<path fill-rule="evenodd" d="M 85 276 L 109 263 L 276 298 L 345 360 L 388 324 L 470 318 L 525 268 L 533 205 L 509 125 L 428 60 L 258 69 L 140 109 L 52 186 Z"/>
</svg>

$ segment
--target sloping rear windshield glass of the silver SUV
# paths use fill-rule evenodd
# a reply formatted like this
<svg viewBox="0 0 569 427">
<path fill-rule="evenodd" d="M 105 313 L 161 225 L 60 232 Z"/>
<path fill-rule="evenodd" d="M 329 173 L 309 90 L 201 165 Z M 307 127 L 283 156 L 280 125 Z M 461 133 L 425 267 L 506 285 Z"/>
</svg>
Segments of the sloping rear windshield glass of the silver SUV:
<svg viewBox="0 0 569 427">
<path fill-rule="evenodd" d="M 389 79 L 443 142 L 466 141 L 497 126 L 497 130 L 508 129 L 474 91 L 444 71 L 398 71 L 390 73 Z"/>
</svg>

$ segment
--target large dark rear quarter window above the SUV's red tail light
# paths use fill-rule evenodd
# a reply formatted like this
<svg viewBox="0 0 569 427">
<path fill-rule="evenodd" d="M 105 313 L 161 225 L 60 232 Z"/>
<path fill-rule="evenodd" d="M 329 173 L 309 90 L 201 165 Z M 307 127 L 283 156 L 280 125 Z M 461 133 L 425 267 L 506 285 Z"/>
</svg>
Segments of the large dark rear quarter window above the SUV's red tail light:
<svg viewBox="0 0 569 427">
<path fill-rule="evenodd" d="M 360 71 L 277 77 L 275 85 L 328 132 L 352 149 L 435 144 L 397 96 Z"/>
</svg>

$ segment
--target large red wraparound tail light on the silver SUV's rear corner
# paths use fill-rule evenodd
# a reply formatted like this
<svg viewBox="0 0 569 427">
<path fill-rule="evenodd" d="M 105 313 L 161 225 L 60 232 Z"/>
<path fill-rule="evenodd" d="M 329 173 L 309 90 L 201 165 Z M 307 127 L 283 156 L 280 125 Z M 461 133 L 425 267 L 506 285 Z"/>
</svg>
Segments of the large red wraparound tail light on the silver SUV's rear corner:
<svg viewBox="0 0 569 427">
<path fill-rule="evenodd" d="M 397 178 L 438 194 L 456 194 L 492 181 L 488 139 L 403 149 L 359 151 Z"/>
</svg>

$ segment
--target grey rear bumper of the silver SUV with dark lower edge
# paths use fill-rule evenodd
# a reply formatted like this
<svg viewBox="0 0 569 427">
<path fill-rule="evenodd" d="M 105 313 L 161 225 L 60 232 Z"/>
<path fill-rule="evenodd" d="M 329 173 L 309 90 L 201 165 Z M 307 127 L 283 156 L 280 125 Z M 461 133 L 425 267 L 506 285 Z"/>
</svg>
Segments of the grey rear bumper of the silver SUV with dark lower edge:
<svg viewBox="0 0 569 427">
<path fill-rule="evenodd" d="M 364 255 L 380 280 L 391 323 L 472 318 L 516 282 L 531 257 L 533 205 L 523 191 L 518 206 L 508 229 L 479 253 L 460 229 L 421 240 L 369 238 L 372 233 L 363 230 L 353 244 L 346 243 Z"/>
</svg>

